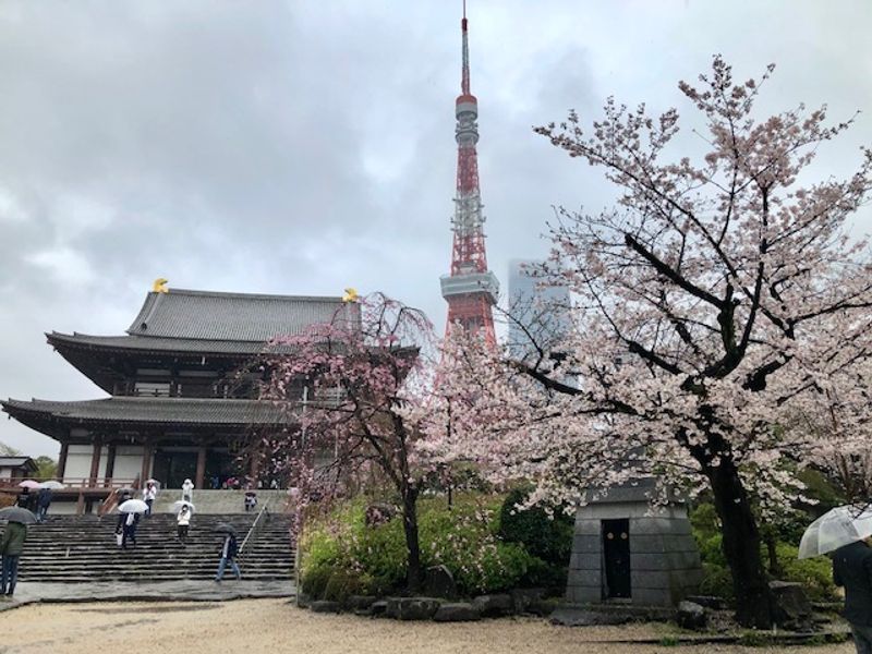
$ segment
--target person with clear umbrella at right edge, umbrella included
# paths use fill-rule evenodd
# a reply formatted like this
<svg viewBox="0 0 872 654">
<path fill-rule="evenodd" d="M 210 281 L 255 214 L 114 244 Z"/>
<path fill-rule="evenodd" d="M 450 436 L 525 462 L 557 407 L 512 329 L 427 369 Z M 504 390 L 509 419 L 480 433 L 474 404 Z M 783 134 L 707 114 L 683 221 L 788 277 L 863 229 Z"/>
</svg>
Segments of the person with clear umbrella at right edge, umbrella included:
<svg viewBox="0 0 872 654">
<path fill-rule="evenodd" d="M 872 509 L 836 507 L 802 534 L 799 558 L 829 554 L 833 581 L 845 588 L 845 610 L 858 654 L 872 654 Z"/>
</svg>

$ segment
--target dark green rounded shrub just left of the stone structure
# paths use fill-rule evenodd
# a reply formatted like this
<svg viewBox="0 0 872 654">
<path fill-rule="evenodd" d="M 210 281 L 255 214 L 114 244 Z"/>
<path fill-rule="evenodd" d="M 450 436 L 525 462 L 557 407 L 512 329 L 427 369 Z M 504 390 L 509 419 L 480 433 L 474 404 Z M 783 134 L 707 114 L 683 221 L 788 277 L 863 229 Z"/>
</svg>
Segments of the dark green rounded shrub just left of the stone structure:
<svg viewBox="0 0 872 654">
<path fill-rule="evenodd" d="M 560 510 L 553 516 L 542 507 L 520 510 L 529 496 L 525 488 L 511 491 L 499 511 L 499 535 L 507 543 L 520 543 L 528 553 L 548 564 L 566 566 L 572 552 L 573 520 Z"/>
</svg>

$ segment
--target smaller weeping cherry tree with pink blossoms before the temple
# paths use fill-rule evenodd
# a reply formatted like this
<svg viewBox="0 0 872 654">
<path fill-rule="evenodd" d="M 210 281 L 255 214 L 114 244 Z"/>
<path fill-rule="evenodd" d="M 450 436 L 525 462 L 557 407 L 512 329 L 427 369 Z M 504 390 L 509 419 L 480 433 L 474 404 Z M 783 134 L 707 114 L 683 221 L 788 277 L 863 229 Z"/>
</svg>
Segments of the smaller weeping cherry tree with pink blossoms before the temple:
<svg viewBox="0 0 872 654">
<path fill-rule="evenodd" d="M 313 499 L 387 481 L 402 507 L 408 585 L 421 583 L 416 502 L 428 472 L 412 447 L 432 387 L 435 350 L 426 316 L 382 294 L 349 303 L 331 324 L 275 339 L 261 397 L 292 426 L 262 437 L 272 471 L 298 488 L 298 516 Z"/>
</svg>

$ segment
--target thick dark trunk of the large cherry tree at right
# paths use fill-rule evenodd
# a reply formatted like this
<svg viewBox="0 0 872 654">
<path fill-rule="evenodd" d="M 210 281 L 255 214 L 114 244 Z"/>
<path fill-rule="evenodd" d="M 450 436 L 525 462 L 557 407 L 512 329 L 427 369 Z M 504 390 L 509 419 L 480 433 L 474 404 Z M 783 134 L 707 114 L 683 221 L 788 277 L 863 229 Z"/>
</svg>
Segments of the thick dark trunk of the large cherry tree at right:
<svg viewBox="0 0 872 654">
<path fill-rule="evenodd" d="M 708 479 L 720 518 L 724 555 L 732 573 L 736 619 L 744 627 L 772 627 L 772 598 L 760 553 L 760 532 L 739 472 L 729 459 L 712 469 Z"/>
</svg>

